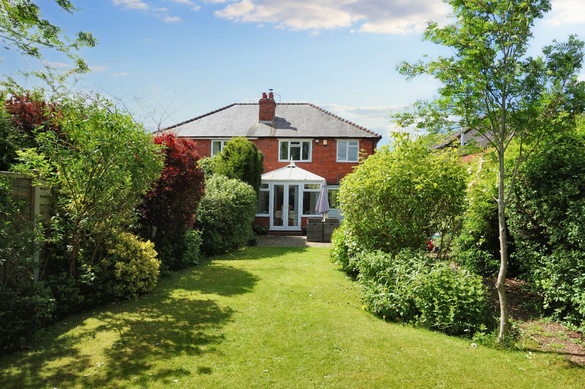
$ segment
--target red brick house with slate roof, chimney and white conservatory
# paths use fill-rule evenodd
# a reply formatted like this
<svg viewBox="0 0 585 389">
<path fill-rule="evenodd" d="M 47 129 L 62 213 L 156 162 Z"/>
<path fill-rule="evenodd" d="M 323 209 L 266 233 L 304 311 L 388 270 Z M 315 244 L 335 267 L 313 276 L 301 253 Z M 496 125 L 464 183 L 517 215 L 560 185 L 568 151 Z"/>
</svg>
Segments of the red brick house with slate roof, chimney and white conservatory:
<svg viewBox="0 0 585 389">
<path fill-rule="evenodd" d="M 256 223 L 271 232 L 300 234 L 326 183 L 329 217 L 342 217 L 336 201 L 339 181 L 374 152 L 381 135 L 309 103 L 276 103 L 273 93 L 258 103 L 235 103 L 166 128 L 188 137 L 199 154 L 221 152 L 243 136 L 264 154 Z M 288 204 L 285 206 L 285 204 Z"/>
</svg>

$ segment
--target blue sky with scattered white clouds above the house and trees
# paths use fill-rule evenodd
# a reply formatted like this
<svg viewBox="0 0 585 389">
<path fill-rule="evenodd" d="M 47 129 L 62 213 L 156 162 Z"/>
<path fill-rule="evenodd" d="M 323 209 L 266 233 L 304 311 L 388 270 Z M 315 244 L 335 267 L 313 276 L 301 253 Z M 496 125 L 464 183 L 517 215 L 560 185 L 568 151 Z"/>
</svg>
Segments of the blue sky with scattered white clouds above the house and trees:
<svg viewBox="0 0 585 389">
<path fill-rule="evenodd" d="M 432 98 L 438 84 L 406 82 L 402 60 L 438 55 L 421 41 L 427 20 L 444 22 L 440 0 L 73 0 L 82 11 L 59 12 L 38 0 L 44 16 L 73 36 L 91 31 L 98 46 L 82 50 L 92 68 L 77 86 L 145 107 L 170 103 L 171 125 L 236 102 L 256 102 L 273 88 L 282 102 L 312 102 L 384 135 L 391 109 Z M 570 33 L 585 39 L 585 1 L 554 0 L 534 29 L 532 54 Z M 443 51 L 445 53 L 445 51 Z M 5 51 L 2 74 L 36 60 Z M 67 67 L 67 58 L 46 55 Z M 32 86 L 34 82 L 31 81 Z M 278 98 L 278 97 L 277 97 Z M 153 121 L 142 116 L 146 125 Z"/>
</svg>

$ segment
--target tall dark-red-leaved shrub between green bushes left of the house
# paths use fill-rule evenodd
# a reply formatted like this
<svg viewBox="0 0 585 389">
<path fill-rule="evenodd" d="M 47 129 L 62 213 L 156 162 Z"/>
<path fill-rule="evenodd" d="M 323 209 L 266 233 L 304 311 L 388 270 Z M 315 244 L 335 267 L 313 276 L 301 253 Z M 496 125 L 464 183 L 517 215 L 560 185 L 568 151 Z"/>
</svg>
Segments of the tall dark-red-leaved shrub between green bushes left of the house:
<svg viewBox="0 0 585 389">
<path fill-rule="evenodd" d="M 164 169 L 138 210 L 142 224 L 156 227 L 149 238 L 160 244 L 165 235 L 191 228 L 195 223 L 195 211 L 205 194 L 205 176 L 192 140 L 163 134 L 154 137 L 154 143 L 161 145 L 166 154 Z"/>
</svg>

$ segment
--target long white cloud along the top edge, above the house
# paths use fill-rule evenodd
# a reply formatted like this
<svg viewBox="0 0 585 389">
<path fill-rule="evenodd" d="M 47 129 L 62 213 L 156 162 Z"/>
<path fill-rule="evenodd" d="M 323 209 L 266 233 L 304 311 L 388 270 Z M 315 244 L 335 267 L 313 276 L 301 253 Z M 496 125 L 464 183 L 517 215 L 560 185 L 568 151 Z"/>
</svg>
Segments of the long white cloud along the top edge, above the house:
<svg viewBox="0 0 585 389">
<path fill-rule="evenodd" d="M 359 32 L 405 34 L 421 32 L 431 19 L 442 22 L 450 11 L 441 0 L 239 0 L 215 15 L 292 30 L 352 27 Z"/>
</svg>

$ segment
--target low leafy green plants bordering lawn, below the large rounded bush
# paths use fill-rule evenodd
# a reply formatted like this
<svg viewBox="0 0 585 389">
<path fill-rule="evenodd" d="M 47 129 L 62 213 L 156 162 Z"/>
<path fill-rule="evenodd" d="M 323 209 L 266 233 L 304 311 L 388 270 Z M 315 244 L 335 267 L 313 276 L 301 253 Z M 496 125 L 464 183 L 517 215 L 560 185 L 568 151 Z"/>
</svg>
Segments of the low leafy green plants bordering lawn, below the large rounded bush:
<svg viewBox="0 0 585 389">
<path fill-rule="evenodd" d="M 495 321 L 481 277 L 425 252 L 369 252 L 357 261 L 364 309 L 447 334 L 473 334 Z"/>
</svg>

